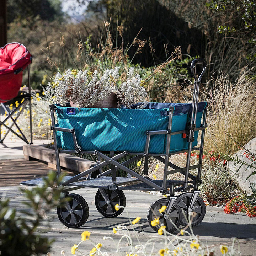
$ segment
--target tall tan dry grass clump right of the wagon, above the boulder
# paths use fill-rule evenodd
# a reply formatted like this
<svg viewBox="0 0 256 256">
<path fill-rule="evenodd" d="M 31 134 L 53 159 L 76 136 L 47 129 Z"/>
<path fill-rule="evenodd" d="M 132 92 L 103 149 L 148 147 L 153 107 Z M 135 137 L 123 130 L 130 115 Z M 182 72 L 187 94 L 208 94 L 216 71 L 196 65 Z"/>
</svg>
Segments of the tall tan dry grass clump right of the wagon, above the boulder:
<svg viewBox="0 0 256 256">
<path fill-rule="evenodd" d="M 235 83 L 220 74 L 210 81 L 212 85 L 208 84 L 207 149 L 233 154 L 238 145 L 230 136 L 242 145 L 256 137 L 256 82 L 249 77 L 249 72 L 242 69 Z"/>
</svg>

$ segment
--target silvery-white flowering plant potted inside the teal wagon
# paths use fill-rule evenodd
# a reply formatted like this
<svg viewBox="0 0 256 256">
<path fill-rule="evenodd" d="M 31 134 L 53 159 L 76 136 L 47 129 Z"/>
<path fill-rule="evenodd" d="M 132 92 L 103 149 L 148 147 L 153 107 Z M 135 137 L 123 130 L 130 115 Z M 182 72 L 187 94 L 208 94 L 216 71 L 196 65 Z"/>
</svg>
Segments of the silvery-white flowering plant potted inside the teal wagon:
<svg viewBox="0 0 256 256">
<path fill-rule="evenodd" d="M 53 81 L 46 86 L 46 98 L 54 103 L 65 105 L 70 100 L 78 107 L 93 107 L 105 100 L 111 92 L 117 96 L 117 106 L 130 107 L 138 102 L 144 102 L 147 97 L 146 82 L 139 74 L 134 75 L 134 68 L 128 69 L 126 81 L 121 81 L 119 67 L 107 69 L 100 77 L 98 71 L 66 70 L 63 74 L 57 72 Z"/>
</svg>

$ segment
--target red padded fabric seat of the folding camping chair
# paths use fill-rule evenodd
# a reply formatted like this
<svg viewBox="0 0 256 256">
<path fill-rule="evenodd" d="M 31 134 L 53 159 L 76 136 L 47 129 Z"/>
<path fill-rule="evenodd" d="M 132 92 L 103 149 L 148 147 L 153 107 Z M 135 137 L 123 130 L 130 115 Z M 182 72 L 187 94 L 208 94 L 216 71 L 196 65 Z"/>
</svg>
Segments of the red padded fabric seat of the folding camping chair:
<svg viewBox="0 0 256 256">
<path fill-rule="evenodd" d="M 0 48 L 0 102 L 7 102 L 18 95 L 22 70 L 31 60 L 32 56 L 23 44 L 8 43 Z"/>
</svg>

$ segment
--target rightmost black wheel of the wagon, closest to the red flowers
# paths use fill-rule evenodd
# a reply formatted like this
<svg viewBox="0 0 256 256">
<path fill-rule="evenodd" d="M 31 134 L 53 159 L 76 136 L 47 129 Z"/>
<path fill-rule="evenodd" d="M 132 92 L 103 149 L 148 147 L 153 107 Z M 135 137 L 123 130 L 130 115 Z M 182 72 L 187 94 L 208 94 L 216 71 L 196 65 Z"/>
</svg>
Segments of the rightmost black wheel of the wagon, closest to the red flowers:
<svg viewBox="0 0 256 256">
<path fill-rule="evenodd" d="M 183 193 L 183 194 L 180 194 L 177 198 L 176 203 L 178 204 L 178 206 L 180 206 L 182 210 L 182 221 L 181 221 L 182 226 L 186 226 L 188 224 L 187 223 L 188 207 L 190 205 L 192 196 L 193 196 L 193 193 Z M 201 197 L 198 197 L 192 211 L 195 212 L 197 215 L 192 219 L 191 226 L 196 226 L 203 220 L 204 215 L 206 213 L 206 206 Z M 184 215 L 186 216 L 187 220 Z"/>
</svg>

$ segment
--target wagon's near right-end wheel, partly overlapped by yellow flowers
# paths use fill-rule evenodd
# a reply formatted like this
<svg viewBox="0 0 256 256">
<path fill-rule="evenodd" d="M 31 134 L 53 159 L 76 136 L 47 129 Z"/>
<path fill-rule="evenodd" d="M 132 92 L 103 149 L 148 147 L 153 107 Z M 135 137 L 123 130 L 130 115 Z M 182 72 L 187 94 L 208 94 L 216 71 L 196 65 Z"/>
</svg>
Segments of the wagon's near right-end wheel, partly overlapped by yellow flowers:
<svg viewBox="0 0 256 256">
<path fill-rule="evenodd" d="M 151 228 L 154 231 L 158 231 L 160 228 L 161 224 L 164 224 L 166 226 L 165 230 L 168 231 L 169 233 L 172 233 L 177 230 L 177 228 L 181 224 L 182 220 L 182 212 L 178 204 L 174 204 L 172 207 L 171 213 L 167 219 L 164 218 L 164 212 L 160 213 L 159 210 L 162 208 L 162 206 L 167 206 L 169 202 L 169 199 L 167 198 L 161 198 L 156 200 L 153 204 L 148 209 L 148 222 Z M 151 225 L 151 220 L 154 220 L 155 218 L 159 218 L 159 225 L 157 226 L 152 226 Z M 177 227 L 177 228 L 176 228 Z"/>
</svg>

